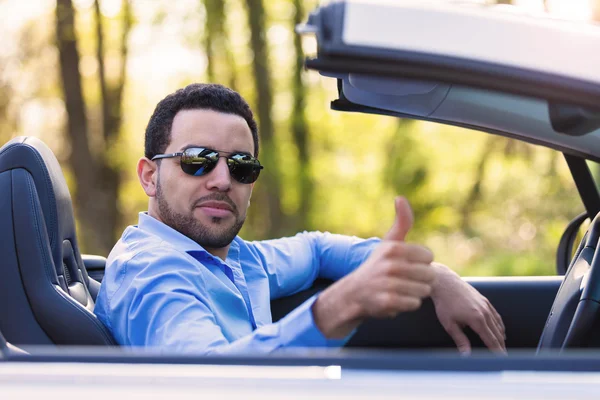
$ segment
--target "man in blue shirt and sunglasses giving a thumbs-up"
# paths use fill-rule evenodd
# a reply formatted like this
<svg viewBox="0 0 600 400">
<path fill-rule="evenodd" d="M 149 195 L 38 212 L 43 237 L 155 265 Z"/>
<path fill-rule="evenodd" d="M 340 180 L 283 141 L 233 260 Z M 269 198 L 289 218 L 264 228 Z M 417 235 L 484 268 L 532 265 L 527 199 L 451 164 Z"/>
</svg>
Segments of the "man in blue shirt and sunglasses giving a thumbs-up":
<svg viewBox="0 0 600 400">
<path fill-rule="evenodd" d="M 431 296 L 461 352 L 470 351 L 464 326 L 505 350 L 487 299 L 404 242 L 412 213 L 403 198 L 383 241 L 238 237 L 262 169 L 256 157 L 256 122 L 236 92 L 193 84 L 157 105 L 137 167 L 148 212 L 110 253 L 95 309 L 117 342 L 202 354 L 340 346 L 366 318 L 415 310 Z M 317 277 L 336 282 L 272 323 L 270 301 Z"/>
</svg>

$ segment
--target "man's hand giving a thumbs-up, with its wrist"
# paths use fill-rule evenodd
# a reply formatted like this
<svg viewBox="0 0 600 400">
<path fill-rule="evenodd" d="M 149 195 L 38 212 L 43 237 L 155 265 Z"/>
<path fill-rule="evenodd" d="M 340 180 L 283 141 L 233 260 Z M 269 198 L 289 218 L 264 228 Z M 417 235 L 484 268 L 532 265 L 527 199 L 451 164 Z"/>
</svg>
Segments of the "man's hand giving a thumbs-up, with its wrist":
<svg viewBox="0 0 600 400">
<path fill-rule="evenodd" d="M 433 254 L 404 238 L 413 223 L 404 198 L 396 198 L 396 219 L 383 242 L 354 272 L 323 291 L 313 305 L 317 327 L 329 338 L 342 338 L 365 318 L 395 317 L 421 306 L 432 292 Z"/>
</svg>

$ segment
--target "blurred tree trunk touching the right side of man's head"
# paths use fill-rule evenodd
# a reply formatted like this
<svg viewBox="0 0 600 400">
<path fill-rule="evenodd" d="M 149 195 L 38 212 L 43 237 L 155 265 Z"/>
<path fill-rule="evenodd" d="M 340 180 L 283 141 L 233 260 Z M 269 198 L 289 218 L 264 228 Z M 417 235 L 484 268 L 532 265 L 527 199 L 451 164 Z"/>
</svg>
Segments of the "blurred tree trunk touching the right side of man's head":
<svg viewBox="0 0 600 400">
<path fill-rule="evenodd" d="M 265 10 L 262 0 L 246 0 L 250 26 L 250 42 L 254 53 L 252 68 L 256 85 L 256 102 L 261 134 L 261 160 L 265 165 L 262 182 L 257 186 L 255 197 L 261 202 L 260 209 L 267 210 L 268 219 L 263 221 L 265 234 L 269 237 L 284 234 L 284 215 L 281 209 L 281 185 L 278 173 L 277 148 L 271 116 L 273 90 L 271 88 L 269 58 L 265 39 Z M 260 193 L 262 192 L 262 193 Z"/>
</svg>

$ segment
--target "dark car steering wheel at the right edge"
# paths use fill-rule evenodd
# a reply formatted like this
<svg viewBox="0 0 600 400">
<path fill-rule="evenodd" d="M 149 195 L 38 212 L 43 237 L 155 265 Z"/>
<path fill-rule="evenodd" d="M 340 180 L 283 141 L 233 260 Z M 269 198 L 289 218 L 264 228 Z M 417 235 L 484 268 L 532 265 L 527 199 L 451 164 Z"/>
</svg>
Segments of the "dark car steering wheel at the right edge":
<svg viewBox="0 0 600 400">
<path fill-rule="evenodd" d="M 571 347 L 597 347 L 600 328 L 600 214 L 596 215 L 575 256 L 544 326 L 538 353 Z"/>
</svg>

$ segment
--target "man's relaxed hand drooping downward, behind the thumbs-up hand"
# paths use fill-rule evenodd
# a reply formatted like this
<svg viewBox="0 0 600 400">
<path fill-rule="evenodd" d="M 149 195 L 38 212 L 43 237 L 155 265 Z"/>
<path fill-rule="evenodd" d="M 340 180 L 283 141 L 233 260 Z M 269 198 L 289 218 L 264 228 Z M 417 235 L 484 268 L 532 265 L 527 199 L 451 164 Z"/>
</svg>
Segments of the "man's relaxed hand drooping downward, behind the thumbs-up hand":
<svg viewBox="0 0 600 400">
<path fill-rule="evenodd" d="M 471 343 L 463 332 L 468 326 L 490 350 L 505 353 L 504 323 L 488 299 L 445 265 L 434 263 L 432 269 L 437 275 L 431 293 L 435 312 L 458 350 L 471 352 Z"/>
</svg>

